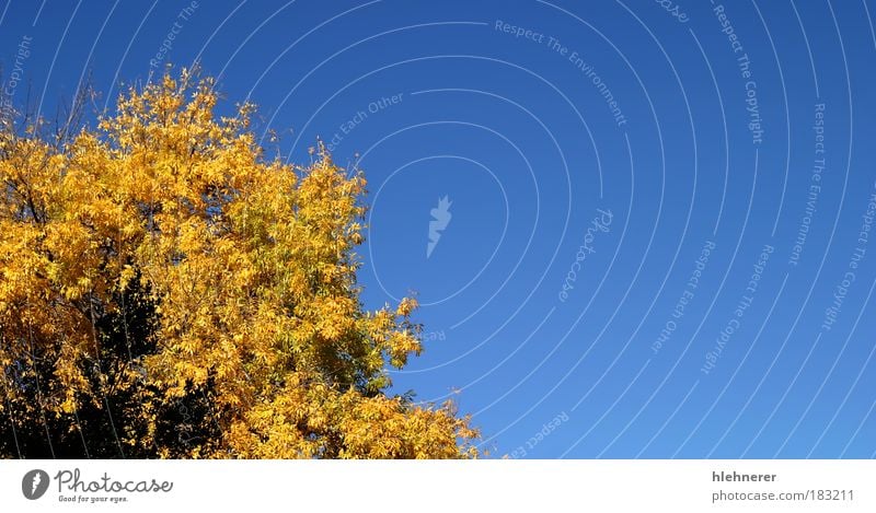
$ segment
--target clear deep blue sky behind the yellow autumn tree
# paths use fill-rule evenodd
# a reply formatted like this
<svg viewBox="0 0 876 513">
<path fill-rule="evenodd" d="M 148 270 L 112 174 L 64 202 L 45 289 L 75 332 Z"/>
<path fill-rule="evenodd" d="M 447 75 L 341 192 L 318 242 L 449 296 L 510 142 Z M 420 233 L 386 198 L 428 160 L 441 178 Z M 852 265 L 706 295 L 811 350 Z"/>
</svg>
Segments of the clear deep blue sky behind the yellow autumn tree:
<svg viewBox="0 0 876 513">
<path fill-rule="evenodd" d="M 0 60 L 49 116 L 198 60 L 364 168 L 364 300 L 423 305 L 395 385 L 496 455 L 871 458 L 873 10 L 11 0 Z"/>
</svg>

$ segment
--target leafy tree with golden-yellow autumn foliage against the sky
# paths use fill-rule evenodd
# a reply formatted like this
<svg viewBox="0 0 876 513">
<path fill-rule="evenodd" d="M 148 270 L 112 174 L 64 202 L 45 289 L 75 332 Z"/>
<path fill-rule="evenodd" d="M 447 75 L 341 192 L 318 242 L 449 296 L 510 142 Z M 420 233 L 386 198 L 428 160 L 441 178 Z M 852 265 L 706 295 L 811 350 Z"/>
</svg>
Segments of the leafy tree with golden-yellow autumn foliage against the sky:
<svg viewBox="0 0 876 513">
<path fill-rule="evenodd" d="M 365 178 L 265 158 L 210 79 L 96 128 L 0 133 L 0 454 L 475 457 L 451 403 L 390 396 L 416 307 L 366 311 Z"/>
</svg>

